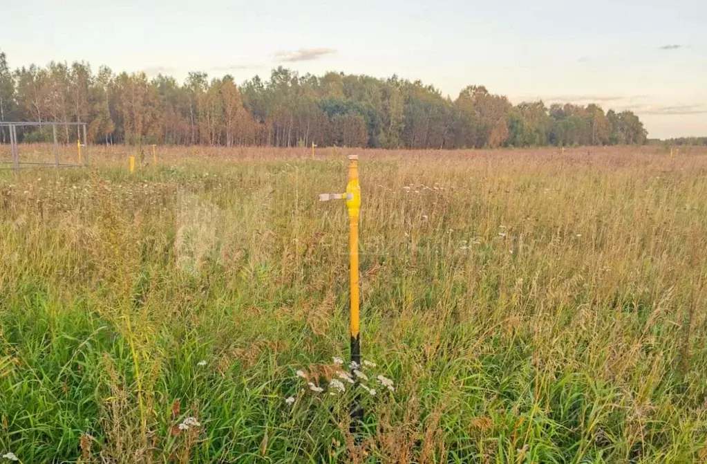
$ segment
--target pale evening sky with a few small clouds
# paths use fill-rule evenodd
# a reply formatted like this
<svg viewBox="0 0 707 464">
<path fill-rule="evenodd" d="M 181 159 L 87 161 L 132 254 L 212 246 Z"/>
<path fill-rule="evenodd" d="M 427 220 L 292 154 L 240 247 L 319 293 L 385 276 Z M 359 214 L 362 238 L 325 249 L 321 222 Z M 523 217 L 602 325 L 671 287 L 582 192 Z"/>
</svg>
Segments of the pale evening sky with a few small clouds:
<svg viewBox="0 0 707 464">
<path fill-rule="evenodd" d="M 4 0 L 11 67 L 88 61 L 113 71 L 269 77 L 392 74 L 455 98 L 629 109 L 649 137 L 707 135 L 707 0 Z"/>
</svg>

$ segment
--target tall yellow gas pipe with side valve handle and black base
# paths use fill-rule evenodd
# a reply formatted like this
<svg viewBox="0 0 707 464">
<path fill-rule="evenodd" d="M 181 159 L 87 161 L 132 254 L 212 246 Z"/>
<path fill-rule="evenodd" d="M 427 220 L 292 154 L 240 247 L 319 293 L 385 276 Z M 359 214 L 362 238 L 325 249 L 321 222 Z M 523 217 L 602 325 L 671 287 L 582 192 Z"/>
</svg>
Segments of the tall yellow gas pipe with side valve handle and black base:
<svg viewBox="0 0 707 464">
<path fill-rule="evenodd" d="M 313 150 L 313 149 L 312 149 Z M 358 183 L 358 156 L 349 155 L 349 176 L 346 193 L 324 193 L 320 201 L 331 199 L 346 199 L 346 209 L 349 211 L 349 335 L 351 337 L 351 366 L 361 366 L 361 324 L 358 294 L 358 216 L 361 211 L 361 185 Z M 358 422 L 363 420 L 363 409 L 358 405 L 360 398 L 354 398 L 351 405 L 351 431 L 356 431 Z"/>
</svg>

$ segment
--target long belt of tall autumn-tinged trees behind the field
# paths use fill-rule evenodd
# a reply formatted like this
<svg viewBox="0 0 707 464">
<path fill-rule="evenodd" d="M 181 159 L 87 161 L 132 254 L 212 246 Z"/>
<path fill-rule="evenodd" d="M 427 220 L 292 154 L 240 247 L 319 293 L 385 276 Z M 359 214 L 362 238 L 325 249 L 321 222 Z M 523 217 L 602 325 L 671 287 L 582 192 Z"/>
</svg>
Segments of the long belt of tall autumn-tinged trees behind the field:
<svg viewBox="0 0 707 464">
<path fill-rule="evenodd" d="M 324 76 L 278 67 L 238 85 L 232 76 L 191 72 L 180 84 L 162 74 L 94 73 L 86 62 L 11 70 L 0 52 L 0 121 L 86 122 L 94 143 L 363 146 L 458 149 L 500 146 L 643 144 L 631 111 L 599 105 L 510 103 L 484 86 L 455 100 L 431 85 L 392 76 Z M 24 141 L 50 129 L 21 129 Z M 76 137 L 69 127 L 62 141 Z M 0 142 L 8 135 L 0 129 Z"/>
</svg>

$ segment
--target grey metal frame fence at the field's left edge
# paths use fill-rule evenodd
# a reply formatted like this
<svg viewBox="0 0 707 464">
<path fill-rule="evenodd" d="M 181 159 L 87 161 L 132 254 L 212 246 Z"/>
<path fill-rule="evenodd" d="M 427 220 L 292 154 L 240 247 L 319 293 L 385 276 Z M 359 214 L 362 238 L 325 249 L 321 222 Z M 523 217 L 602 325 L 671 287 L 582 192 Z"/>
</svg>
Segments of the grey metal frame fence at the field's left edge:
<svg viewBox="0 0 707 464">
<path fill-rule="evenodd" d="M 17 138 L 17 128 L 18 127 L 52 127 L 52 137 L 54 139 L 54 162 L 30 162 L 22 161 L 20 158 L 20 149 Z M 57 139 L 57 127 L 65 126 L 76 126 L 77 129 L 81 128 L 81 134 L 83 137 L 77 134 L 76 136 L 76 149 L 78 151 L 78 163 L 61 163 L 59 161 L 59 141 Z M 86 123 L 85 122 L 26 122 L 26 121 L 2 121 L 0 122 L 0 130 L 4 130 L 7 127 L 10 132 L 10 153 L 12 156 L 12 161 L 0 161 L 0 169 L 23 169 L 33 166 L 52 166 L 55 168 L 81 168 L 83 166 L 88 166 L 88 144 L 86 143 Z M 83 144 L 81 144 L 81 138 L 83 138 Z M 81 150 L 83 148 L 83 151 Z M 6 166 L 6 165 L 11 166 Z"/>
</svg>

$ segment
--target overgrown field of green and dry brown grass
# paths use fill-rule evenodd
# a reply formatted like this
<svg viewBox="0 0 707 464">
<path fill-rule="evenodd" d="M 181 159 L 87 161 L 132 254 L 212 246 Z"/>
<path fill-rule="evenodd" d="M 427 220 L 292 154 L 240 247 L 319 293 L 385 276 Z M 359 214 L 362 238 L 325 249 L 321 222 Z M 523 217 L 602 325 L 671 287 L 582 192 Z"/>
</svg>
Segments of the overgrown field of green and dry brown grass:
<svg viewBox="0 0 707 464">
<path fill-rule="evenodd" d="M 158 147 L 134 175 L 128 153 L 0 172 L 0 456 L 707 460 L 707 151 Z M 346 211 L 317 202 L 349 153 L 358 439 L 330 382 Z"/>
</svg>

